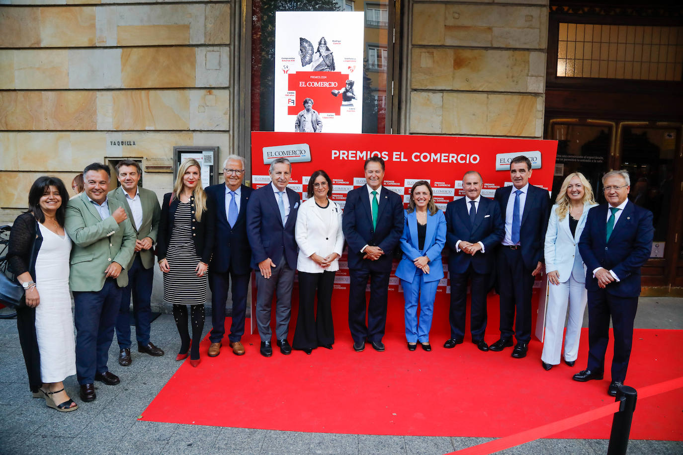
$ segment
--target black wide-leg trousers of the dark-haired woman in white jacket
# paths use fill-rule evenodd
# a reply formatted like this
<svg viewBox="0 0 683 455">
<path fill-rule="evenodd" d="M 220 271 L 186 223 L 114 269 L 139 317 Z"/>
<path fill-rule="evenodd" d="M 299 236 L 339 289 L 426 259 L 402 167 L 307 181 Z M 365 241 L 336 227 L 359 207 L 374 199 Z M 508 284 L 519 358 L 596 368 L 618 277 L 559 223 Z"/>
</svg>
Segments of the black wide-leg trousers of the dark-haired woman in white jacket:
<svg viewBox="0 0 683 455">
<path fill-rule="evenodd" d="M 335 342 L 335 327 L 332 323 L 332 290 L 335 285 L 335 272 L 323 271 L 322 274 L 298 272 L 299 308 L 292 348 L 315 349 L 323 344 Z M 315 305 L 318 295 L 318 311 Z"/>
</svg>

